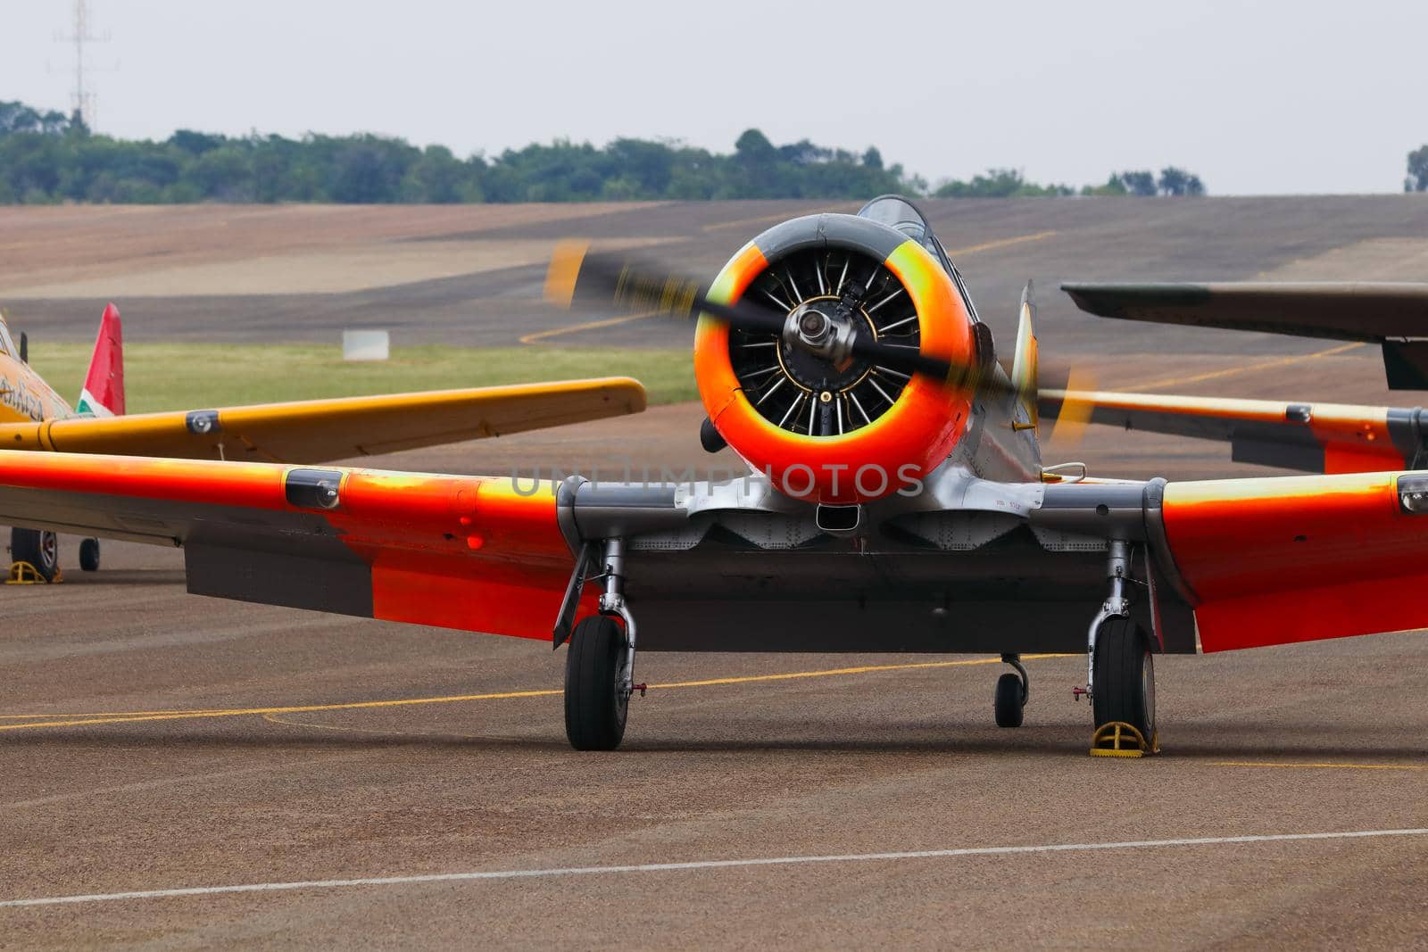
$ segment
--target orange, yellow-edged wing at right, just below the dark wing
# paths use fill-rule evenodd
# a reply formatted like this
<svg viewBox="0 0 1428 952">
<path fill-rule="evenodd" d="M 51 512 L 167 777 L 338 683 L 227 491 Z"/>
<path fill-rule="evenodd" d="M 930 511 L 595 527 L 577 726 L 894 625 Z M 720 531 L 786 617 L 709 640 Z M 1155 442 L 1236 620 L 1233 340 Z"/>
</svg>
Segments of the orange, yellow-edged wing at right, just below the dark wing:
<svg viewBox="0 0 1428 952">
<path fill-rule="evenodd" d="M 1277 402 L 1107 391 L 1041 391 L 1042 418 L 1062 407 L 1090 421 L 1230 442 L 1235 462 L 1308 472 L 1374 472 L 1417 467 L 1424 450 L 1421 410 L 1351 404 Z"/>
</svg>

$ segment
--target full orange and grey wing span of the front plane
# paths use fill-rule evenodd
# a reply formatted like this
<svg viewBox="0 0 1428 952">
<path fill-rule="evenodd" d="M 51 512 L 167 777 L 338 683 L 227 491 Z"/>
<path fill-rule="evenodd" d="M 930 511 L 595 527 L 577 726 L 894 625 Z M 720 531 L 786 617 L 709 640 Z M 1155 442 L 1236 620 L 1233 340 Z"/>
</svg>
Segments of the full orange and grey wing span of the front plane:
<svg viewBox="0 0 1428 952">
<path fill-rule="evenodd" d="M 1194 652 L 1197 629 L 1222 651 L 1428 627 L 1428 474 L 962 471 L 892 505 L 860 542 L 758 475 L 524 484 L 0 451 L 0 522 L 183 545 L 197 594 L 464 631 L 550 639 L 563 607 L 593 609 L 575 552 L 611 537 L 644 651 L 1084 651 L 1117 538 L 1164 651 Z"/>
</svg>

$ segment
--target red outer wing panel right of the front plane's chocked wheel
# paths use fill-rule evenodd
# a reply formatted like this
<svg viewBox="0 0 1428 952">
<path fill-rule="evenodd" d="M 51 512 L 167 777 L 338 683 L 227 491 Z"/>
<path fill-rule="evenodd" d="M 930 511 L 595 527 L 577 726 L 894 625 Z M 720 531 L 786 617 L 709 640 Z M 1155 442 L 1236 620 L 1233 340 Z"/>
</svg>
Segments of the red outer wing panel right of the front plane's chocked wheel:
<svg viewBox="0 0 1428 952">
<path fill-rule="evenodd" d="M 1428 474 L 1171 482 L 1170 555 L 1205 651 L 1428 625 Z"/>
</svg>

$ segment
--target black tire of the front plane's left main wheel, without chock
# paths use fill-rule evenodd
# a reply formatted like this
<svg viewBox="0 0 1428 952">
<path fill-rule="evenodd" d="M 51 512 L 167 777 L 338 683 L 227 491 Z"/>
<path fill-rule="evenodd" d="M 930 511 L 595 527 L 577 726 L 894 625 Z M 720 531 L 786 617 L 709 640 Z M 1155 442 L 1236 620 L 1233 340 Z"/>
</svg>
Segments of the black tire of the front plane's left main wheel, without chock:
<svg viewBox="0 0 1428 952">
<path fill-rule="evenodd" d="M 577 751 L 613 751 L 624 738 L 630 698 L 621 689 L 627 642 L 614 618 L 587 618 L 565 655 L 565 736 Z"/>
</svg>

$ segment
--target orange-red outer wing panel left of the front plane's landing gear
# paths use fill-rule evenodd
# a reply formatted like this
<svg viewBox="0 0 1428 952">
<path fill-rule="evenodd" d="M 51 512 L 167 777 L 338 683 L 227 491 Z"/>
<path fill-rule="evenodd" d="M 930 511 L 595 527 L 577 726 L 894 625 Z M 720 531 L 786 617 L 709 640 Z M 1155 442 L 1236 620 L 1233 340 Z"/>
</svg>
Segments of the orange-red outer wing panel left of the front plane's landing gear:
<svg viewBox="0 0 1428 952">
<path fill-rule="evenodd" d="M 555 490 L 0 451 L 0 522 L 181 544 L 191 592 L 523 638 L 551 637 L 574 565 Z"/>
</svg>

